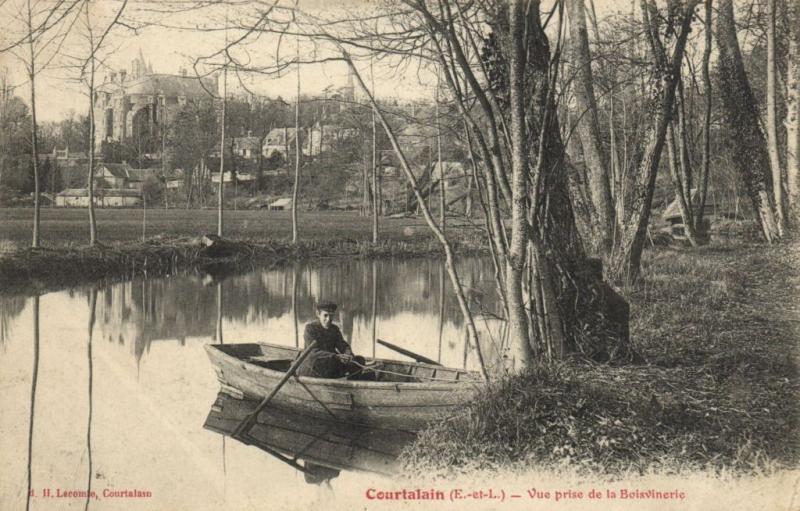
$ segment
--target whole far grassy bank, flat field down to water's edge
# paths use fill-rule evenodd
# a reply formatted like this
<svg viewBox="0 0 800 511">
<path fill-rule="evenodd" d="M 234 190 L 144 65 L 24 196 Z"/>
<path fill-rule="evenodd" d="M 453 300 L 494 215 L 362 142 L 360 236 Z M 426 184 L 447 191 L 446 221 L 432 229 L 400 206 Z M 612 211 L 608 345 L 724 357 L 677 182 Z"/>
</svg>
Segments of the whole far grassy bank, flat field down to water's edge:
<svg viewBox="0 0 800 511">
<path fill-rule="evenodd" d="M 44 208 L 42 248 L 30 244 L 32 209 L 0 209 L 0 293 L 37 294 L 47 290 L 106 279 L 165 275 L 200 269 L 238 273 L 255 266 L 326 257 L 411 257 L 442 253 L 424 220 L 380 219 L 379 239 L 371 243 L 372 220 L 355 212 L 304 212 L 299 217 L 301 241 L 291 243 L 287 211 L 227 211 L 225 238 L 232 250 L 204 249 L 200 235 L 216 232 L 214 210 L 151 210 L 142 240 L 142 212 L 99 209 L 100 245 L 86 246 L 84 209 Z M 476 228 L 463 220 L 452 236 L 460 253 L 482 250 Z"/>
</svg>

